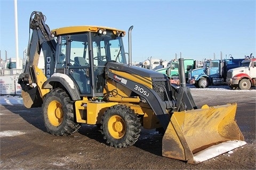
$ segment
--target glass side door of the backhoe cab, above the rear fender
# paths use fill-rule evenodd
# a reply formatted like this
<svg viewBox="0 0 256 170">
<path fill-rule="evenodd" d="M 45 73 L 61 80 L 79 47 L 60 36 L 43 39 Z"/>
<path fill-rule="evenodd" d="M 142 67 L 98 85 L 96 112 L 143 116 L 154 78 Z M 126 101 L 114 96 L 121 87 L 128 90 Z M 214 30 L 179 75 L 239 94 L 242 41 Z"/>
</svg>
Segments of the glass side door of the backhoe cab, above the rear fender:
<svg viewBox="0 0 256 170">
<path fill-rule="evenodd" d="M 69 75 L 82 96 L 92 94 L 90 60 L 87 49 L 88 36 L 86 33 L 61 37 L 61 53 L 58 56 L 57 70 L 60 72 L 63 69 L 63 73 Z"/>
</svg>

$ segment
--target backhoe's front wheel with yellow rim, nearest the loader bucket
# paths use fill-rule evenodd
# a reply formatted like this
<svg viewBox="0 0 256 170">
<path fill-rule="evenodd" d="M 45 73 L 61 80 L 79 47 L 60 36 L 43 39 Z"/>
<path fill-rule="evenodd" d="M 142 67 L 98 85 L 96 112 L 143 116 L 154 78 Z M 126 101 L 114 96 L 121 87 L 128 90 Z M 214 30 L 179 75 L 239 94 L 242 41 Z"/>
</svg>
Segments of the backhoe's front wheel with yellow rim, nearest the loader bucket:
<svg viewBox="0 0 256 170">
<path fill-rule="evenodd" d="M 101 124 L 104 139 L 115 148 L 131 146 L 140 136 L 140 119 L 124 105 L 109 107 L 102 116 Z"/>
</svg>

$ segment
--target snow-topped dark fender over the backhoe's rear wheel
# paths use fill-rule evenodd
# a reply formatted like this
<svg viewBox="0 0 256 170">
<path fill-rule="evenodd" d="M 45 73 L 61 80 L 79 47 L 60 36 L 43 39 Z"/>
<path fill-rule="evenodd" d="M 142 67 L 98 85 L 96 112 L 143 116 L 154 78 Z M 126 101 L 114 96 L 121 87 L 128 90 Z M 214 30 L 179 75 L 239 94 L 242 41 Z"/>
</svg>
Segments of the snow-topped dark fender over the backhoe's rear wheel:
<svg viewBox="0 0 256 170">
<path fill-rule="evenodd" d="M 47 79 L 44 84 L 43 88 L 52 89 L 52 86 L 55 82 L 59 82 L 65 87 L 71 96 L 72 100 L 81 100 L 78 92 L 78 88 L 76 87 L 73 80 L 68 77 L 66 74 L 61 73 L 54 73 L 50 79 Z"/>
</svg>

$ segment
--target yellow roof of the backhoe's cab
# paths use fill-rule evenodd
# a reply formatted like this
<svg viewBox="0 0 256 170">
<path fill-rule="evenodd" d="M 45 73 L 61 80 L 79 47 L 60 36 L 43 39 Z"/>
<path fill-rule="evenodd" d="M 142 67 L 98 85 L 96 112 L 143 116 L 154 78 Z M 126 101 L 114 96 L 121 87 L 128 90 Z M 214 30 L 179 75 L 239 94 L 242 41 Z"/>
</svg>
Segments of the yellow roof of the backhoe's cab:
<svg viewBox="0 0 256 170">
<path fill-rule="evenodd" d="M 54 36 L 58 36 L 58 35 L 66 35 L 69 33 L 77 33 L 77 32 L 98 32 L 99 30 L 110 30 L 110 31 L 113 31 L 114 34 L 119 32 L 119 33 L 124 33 L 125 35 L 125 31 L 123 30 L 110 28 L 110 27 L 95 26 L 95 25 L 82 25 L 82 26 L 57 28 L 52 30 L 52 34 Z"/>
</svg>

